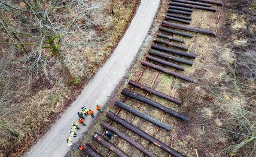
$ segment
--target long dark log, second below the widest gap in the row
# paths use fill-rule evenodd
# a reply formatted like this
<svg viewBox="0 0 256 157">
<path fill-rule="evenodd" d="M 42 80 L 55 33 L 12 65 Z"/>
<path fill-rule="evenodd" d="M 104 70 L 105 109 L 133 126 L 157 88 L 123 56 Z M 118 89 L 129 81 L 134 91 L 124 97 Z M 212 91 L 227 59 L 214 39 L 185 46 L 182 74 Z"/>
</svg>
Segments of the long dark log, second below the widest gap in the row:
<svg viewBox="0 0 256 157">
<path fill-rule="evenodd" d="M 187 123 L 191 121 L 190 118 L 188 118 L 187 116 L 179 114 L 178 112 L 175 112 L 172 109 L 167 108 L 164 105 L 161 105 L 160 103 L 157 103 L 148 98 L 145 98 L 144 96 L 138 95 L 137 93 L 131 92 L 130 90 L 123 89 L 121 94 L 129 98 L 135 99 L 137 101 L 147 103 L 148 105 L 153 106 L 154 108 L 160 109 L 161 111 L 166 112 L 167 114 L 170 114 L 176 118 L 179 118 L 179 120 L 185 121 Z"/>
</svg>

